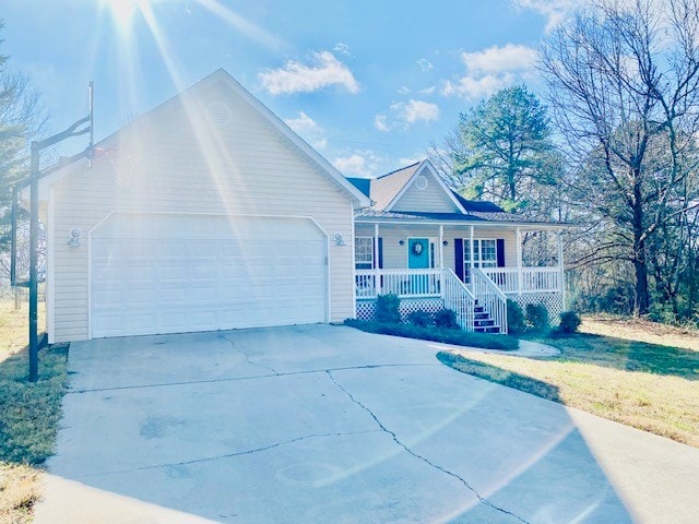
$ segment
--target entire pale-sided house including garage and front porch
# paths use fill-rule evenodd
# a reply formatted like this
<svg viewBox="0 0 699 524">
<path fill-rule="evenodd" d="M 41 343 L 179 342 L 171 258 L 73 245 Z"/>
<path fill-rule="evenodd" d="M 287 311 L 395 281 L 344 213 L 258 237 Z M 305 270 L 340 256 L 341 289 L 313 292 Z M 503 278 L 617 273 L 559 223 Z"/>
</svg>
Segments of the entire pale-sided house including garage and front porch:
<svg viewBox="0 0 699 524">
<path fill-rule="evenodd" d="M 466 330 L 505 332 L 506 297 L 562 309 L 562 253 L 520 250 L 560 225 L 466 201 L 429 162 L 347 179 L 223 70 L 92 151 L 40 181 L 51 343 L 341 322 L 386 293 Z"/>
</svg>

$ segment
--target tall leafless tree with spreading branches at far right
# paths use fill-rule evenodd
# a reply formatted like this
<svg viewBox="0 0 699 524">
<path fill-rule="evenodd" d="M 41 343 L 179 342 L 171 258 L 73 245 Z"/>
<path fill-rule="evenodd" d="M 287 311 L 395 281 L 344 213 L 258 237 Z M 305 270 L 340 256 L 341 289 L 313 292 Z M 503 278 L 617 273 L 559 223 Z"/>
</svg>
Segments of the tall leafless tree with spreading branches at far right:
<svg viewBox="0 0 699 524">
<path fill-rule="evenodd" d="M 649 311 L 649 247 L 696 204 L 680 196 L 699 156 L 699 0 L 593 0 L 541 50 L 566 139 L 572 202 L 594 213 L 590 260 L 629 261 L 635 311 Z"/>
</svg>

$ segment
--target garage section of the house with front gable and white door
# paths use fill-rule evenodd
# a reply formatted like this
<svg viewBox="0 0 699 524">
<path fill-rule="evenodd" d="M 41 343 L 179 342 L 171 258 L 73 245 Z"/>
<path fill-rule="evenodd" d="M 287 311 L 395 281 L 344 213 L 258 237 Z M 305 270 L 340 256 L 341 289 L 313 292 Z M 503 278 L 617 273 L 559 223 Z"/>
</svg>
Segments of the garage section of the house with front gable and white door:
<svg viewBox="0 0 699 524">
<path fill-rule="evenodd" d="M 220 70 L 40 184 L 49 342 L 343 321 L 369 199 Z"/>
</svg>

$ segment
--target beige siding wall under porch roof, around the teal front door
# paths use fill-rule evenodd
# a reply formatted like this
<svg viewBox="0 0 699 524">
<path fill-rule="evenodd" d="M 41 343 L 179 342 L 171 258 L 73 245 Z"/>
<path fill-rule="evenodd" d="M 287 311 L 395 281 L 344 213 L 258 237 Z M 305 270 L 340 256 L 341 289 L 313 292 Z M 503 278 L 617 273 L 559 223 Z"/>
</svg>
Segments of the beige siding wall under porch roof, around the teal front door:
<svg viewBox="0 0 699 524">
<path fill-rule="evenodd" d="M 374 225 L 357 224 L 355 235 L 374 236 Z M 445 226 L 443 239 L 449 243 L 443 246 L 445 267 L 455 272 L 454 267 L 454 239 L 469 239 L 471 235 L 469 226 Z M 400 240 L 408 237 L 435 238 L 436 265 L 439 266 L 439 226 L 437 225 L 379 225 L 379 237 L 383 238 L 383 267 L 403 269 L 407 266 L 407 242 L 400 246 Z M 474 238 L 501 238 L 505 240 L 505 266 L 517 267 L 517 234 L 514 229 L 498 226 L 475 226 Z"/>
</svg>

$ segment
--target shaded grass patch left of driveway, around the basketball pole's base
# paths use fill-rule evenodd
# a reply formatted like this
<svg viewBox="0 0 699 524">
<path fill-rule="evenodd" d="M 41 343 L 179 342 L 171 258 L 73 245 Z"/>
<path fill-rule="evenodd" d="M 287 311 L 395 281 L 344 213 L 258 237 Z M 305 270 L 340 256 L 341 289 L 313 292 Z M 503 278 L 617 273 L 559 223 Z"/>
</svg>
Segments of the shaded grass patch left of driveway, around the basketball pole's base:
<svg viewBox="0 0 699 524">
<path fill-rule="evenodd" d="M 39 352 L 39 380 L 27 380 L 28 354 L 0 362 L 0 461 L 40 465 L 54 452 L 67 386 L 67 346 Z"/>
</svg>

